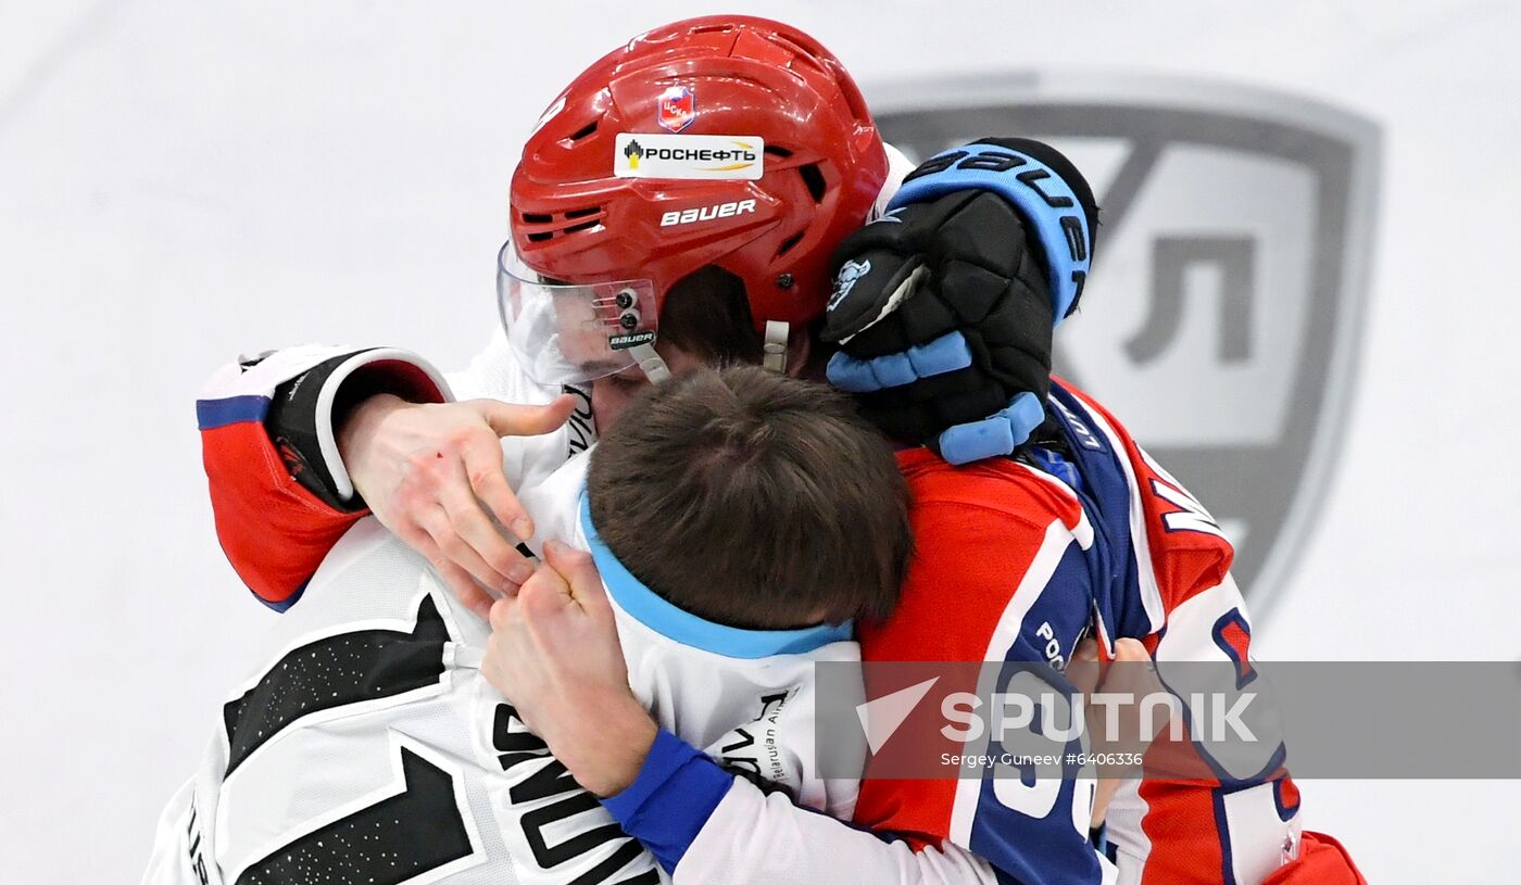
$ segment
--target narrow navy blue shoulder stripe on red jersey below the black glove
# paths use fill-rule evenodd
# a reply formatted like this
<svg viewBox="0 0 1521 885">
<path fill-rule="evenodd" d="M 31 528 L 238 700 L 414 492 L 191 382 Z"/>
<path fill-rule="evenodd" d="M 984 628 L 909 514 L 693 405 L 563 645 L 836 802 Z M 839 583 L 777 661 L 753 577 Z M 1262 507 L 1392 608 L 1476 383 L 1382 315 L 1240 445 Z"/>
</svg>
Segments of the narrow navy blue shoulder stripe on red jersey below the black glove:
<svg viewBox="0 0 1521 885">
<path fill-rule="evenodd" d="M 1051 385 L 1049 409 L 1062 424 L 1069 458 L 1081 474 L 1077 496 L 1094 526 L 1089 560 L 1094 569 L 1094 604 L 1113 639 L 1151 633 L 1151 617 L 1141 599 L 1139 567 L 1130 544 L 1130 481 L 1126 455 L 1115 452 L 1095 429 L 1088 408 L 1062 385 Z"/>
</svg>

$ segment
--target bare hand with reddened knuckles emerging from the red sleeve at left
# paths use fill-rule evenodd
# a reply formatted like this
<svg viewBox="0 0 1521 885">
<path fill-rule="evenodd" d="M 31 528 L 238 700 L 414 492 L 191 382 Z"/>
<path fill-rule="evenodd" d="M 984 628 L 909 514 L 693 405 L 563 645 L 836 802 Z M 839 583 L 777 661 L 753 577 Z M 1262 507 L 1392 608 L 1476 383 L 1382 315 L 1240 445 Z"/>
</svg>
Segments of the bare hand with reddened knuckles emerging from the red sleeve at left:
<svg viewBox="0 0 1521 885">
<path fill-rule="evenodd" d="M 499 438 L 548 433 L 573 409 L 569 395 L 548 406 L 514 406 L 417 404 L 379 394 L 348 415 L 338 452 L 376 519 L 427 557 L 459 601 L 487 617 L 493 598 L 482 587 L 511 593 L 532 573 L 517 543 L 497 529 L 506 526 L 522 540 L 534 534 L 502 471 Z"/>
</svg>

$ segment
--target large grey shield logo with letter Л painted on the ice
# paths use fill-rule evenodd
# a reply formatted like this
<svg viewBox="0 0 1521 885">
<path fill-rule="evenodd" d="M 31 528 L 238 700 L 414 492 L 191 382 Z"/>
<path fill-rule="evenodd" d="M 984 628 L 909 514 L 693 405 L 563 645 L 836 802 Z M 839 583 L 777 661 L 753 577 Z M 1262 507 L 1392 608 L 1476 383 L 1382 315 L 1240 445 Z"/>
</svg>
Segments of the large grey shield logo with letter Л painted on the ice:
<svg viewBox="0 0 1521 885">
<path fill-rule="evenodd" d="M 1083 170 L 1103 225 L 1057 371 L 1221 517 L 1261 616 L 1314 526 L 1355 394 L 1380 128 L 1297 96 L 1135 76 L 870 97 L 910 158 L 1007 132 Z"/>
</svg>

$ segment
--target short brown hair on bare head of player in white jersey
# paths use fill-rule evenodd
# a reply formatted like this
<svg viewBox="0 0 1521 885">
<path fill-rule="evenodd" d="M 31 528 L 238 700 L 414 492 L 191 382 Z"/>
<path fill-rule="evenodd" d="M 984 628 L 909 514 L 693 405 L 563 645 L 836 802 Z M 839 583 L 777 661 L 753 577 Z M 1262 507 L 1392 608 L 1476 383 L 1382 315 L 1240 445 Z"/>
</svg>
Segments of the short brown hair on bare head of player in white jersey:
<svg viewBox="0 0 1521 885">
<path fill-rule="evenodd" d="M 757 366 L 683 373 L 631 403 L 587 496 L 636 578 L 732 626 L 884 617 L 913 550 L 882 436 L 844 395 Z"/>
</svg>

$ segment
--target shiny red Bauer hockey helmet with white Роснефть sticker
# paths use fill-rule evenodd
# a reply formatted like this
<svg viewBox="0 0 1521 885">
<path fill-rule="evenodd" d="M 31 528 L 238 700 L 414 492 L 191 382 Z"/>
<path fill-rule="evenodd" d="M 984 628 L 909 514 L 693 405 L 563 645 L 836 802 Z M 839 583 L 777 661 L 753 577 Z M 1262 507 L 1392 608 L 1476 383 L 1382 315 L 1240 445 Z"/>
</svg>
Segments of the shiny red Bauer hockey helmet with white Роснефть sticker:
<svg viewBox="0 0 1521 885">
<path fill-rule="evenodd" d="M 614 348 L 648 341 L 669 287 L 707 265 L 744 283 L 757 328 L 806 324 L 824 312 L 830 251 L 885 178 L 861 91 L 817 41 L 764 18 L 678 21 L 608 53 L 549 106 L 513 175 L 503 280 L 567 283 L 535 297 L 560 313 L 581 304 L 625 333 Z M 511 331 L 522 303 L 510 301 Z M 537 336 L 554 322 L 519 325 Z"/>
</svg>

